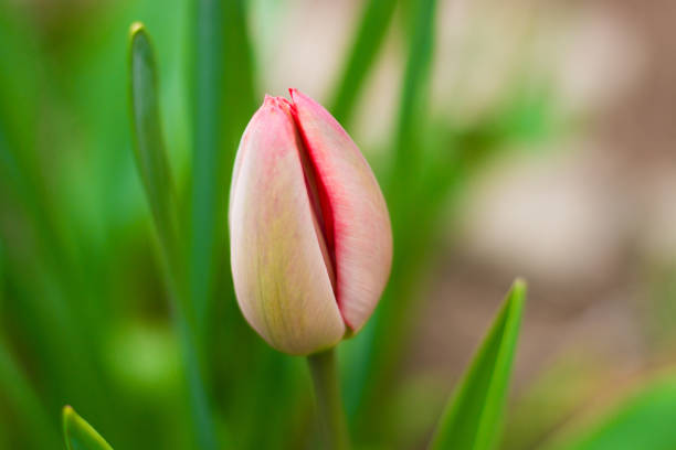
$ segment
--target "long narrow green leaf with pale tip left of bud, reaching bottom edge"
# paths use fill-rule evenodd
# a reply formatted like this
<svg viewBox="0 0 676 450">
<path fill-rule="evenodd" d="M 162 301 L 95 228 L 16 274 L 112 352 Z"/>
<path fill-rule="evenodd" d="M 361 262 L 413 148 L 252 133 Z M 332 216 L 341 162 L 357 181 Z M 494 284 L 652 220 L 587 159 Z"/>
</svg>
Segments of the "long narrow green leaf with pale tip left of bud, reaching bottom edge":
<svg viewBox="0 0 676 450">
<path fill-rule="evenodd" d="M 131 117 L 136 160 L 167 258 L 169 290 L 176 307 L 175 325 L 181 342 L 198 447 L 211 450 L 216 448 L 216 438 L 204 388 L 203 356 L 196 332 L 193 311 L 188 302 L 186 272 L 181 247 L 178 244 L 178 213 L 160 127 L 155 52 L 140 23 L 131 25 L 130 41 Z"/>
</svg>

